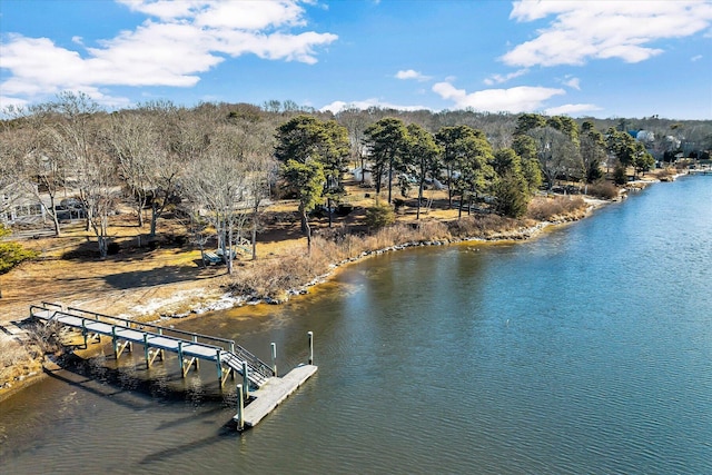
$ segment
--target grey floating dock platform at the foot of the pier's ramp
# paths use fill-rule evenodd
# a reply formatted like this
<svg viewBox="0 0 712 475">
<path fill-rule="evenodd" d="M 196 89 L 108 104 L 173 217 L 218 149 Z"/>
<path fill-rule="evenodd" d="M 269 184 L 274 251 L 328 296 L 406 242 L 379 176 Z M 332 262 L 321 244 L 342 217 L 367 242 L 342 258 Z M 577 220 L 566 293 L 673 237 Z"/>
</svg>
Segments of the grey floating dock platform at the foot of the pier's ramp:
<svg viewBox="0 0 712 475">
<path fill-rule="evenodd" d="M 270 378 L 263 387 L 253 393 L 254 398 L 243 412 L 243 427 L 240 427 L 239 412 L 234 417 L 238 431 L 255 427 L 267 414 L 275 408 L 299 386 L 309 379 L 317 370 L 314 365 L 300 365 L 283 377 Z"/>
</svg>

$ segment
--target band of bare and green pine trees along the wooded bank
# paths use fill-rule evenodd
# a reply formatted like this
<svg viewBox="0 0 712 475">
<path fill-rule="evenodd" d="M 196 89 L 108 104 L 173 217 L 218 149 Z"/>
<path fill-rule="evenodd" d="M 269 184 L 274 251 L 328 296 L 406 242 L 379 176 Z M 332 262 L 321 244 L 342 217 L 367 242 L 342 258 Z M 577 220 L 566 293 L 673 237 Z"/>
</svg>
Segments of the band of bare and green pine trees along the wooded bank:
<svg viewBox="0 0 712 475">
<path fill-rule="evenodd" d="M 370 108 L 333 115 L 290 101 L 190 109 L 152 101 L 107 112 L 86 95 L 65 92 L 4 116 L 0 211 L 30 197 L 59 236 L 61 214 L 73 207 L 103 257 L 120 201 L 135 208 L 138 226 L 148 221 L 149 237 L 180 205 L 201 248 L 217 235 L 228 271 L 235 243 L 251 243 L 257 257 L 261 214 L 277 192 L 297 198 L 310 246 L 309 212 L 325 206 L 330 219 L 349 162 L 360 164 L 362 177 L 370 175 L 376 195 L 387 191 L 388 205 L 394 188 L 403 197 L 415 194 L 417 219 L 426 187 L 446 187 L 458 215 L 486 199 L 496 212 L 517 217 L 543 184 L 551 190 L 557 180 L 595 182 L 604 162 L 619 175 L 654 164 L 643 142 L 621 127 L 536 113 Z M 679 125 L 678 136 L 684 130 L 703 136 L 695 139 L 700 147 L 712 141 L 712 132 L 704 136 L 708 122 Z"/>
</svg>

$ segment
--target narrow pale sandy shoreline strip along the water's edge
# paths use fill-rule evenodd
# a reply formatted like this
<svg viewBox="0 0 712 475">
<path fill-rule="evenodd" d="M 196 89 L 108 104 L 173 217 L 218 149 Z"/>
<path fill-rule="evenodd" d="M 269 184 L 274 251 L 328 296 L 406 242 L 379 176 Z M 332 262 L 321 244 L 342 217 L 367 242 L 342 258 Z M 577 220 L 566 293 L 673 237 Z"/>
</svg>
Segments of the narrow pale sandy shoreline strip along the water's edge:
<svg viewBox="0 0 712 475">
<path fill-rule="evenodd" d="M 678 176 L 675 178 L 678 178 Z M 656 181 L 643 180 L 641 185 L 642 185 L 642 188 L 645 188 L 646 186 L 653 182 L 660 182 L 660 180 L 656 180 Z M 584 198 L 584 200 L 586 201 L 587 206 L 581 216 L 568 217 L 568 218 L 560 219 L 555 221 L 538 221 L 533 226 L 520 228 L 515 231 L 502 231 L 496 234 L 493 237 L 487 237 L 487 238 L 457 237 L 457 238 L 448 238 L 448 239 L 441 239 L 441 240 L 413 241 L 413 243 L 389 246 L 383 249 L 363 251 L 359 256 L 347 258 L 339 263 L 330 264 L 329 270 L 326 274 L 317 276 L 310 281 L 297 288 L 287 290 L 286 293 L 287 298 L 284 300 L 276 300 L 271 298 L 256 298 L 249 295 L 235 296 L 235 295 L 231 295 L 230 293 L 224 291 L 224 293 L 215 293 L 214 295 L 207 297 L 208 301 L 201 303 L 200 300 L 206 300 L 205 293 L 207 291 L 207 289 L 194 288 L 192 290 L 181 290 L 176 293 L 179 295 L 178 299 L 176 298 L 175 295 L 168 298 L 152 298 L 144 305 L 137 305 L 137 306 L 130 307 L 128 311 L 121 313 L 118 316 L 126 317 L 127 313 L 129 314 L 128 317 L 147 315 L 148 313 L 151 311 L 151 309 L 169 307 L 171 304 L 177 304 L 182 308 L 186 308 L 186 307 L 190 308 L 188 311 L 177 311 L 177 313 L 171 313 L 170 315 L 160 315 L 158 318 L 147 320 L 152 323 L 160 323 L 160 321 L 165 323 L 165 321 L 180 320 L 180 319 L 187 319 L 187 318 L 197 318 L 207 313 L 227 310 L 236 307 L 245 307 L 248 305 L 281 305 L 288 301 L 289 299 L 291 299 L 291 297 L 306 295 L 309 293 L 310 288 L 328 281 L 337 271 L 343 269 L 345 266 L 357 263 L 357 261 L 362 261 L 373 256 L 379 256 L 386 253 L 404 250 L 412 247 L 522 243 L 522 241 L 526 241 L 526 240 L 531 240 L 540 237 L 547 229 L 552 229 L 558 226 L 565 226 L 565 225 L 585 219 L 590 217 L 595 210 L 609 204 L 622 201 L 626 198 L 626 196 L 627 196 L 627 190 L 622 191 L 619 198 L 613 200 L 603 200 L 603 199 L 586 197 Z M 188 297 L 188 301 L 185 301 L 181 299 L 182 297 L 186 297 L 186 296 Z M 87 353 L 86 356 L 89 356 L 93 353 L 95 352 L 90 350 Z M 32 386 L 34 383 L 42 380 L 44 377 L 47 377 L 44 372 L 48 369 L 51 370 L 52 367 L 56 369 L 57 364 L 50 358 L 48 358 L 47 356 L 44 356 L 43 362 L 41 363 L 41 372 L 39 373 L 36 372 L 36 374 L 33 375 L 28 375 L 28 376 L 24 376 L 22 379 L 13 380 L 10 387 L 6 387 L 6 386 L 0 387 L 0 404 L 9 399 L 10 397 L 17 395 L 18 393 L 21 393 L 23 389 Z"/>
</svg>

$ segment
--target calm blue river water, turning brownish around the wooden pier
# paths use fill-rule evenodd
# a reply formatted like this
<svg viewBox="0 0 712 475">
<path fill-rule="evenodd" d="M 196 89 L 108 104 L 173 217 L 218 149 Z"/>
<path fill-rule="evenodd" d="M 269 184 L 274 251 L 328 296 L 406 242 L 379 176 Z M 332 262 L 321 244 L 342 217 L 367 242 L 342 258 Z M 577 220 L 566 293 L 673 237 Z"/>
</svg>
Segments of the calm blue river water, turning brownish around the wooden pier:
<svg viewBox="0 0 712 475">
<path fill-rule="evenodd" d="M 265 360 L 276 342 L 281 369 L 315 331 L 317 375 L 241 436 L 210 365 L 58 372 L 0 405 L 0 472 L 710 474 L 711 294 L 712 177 L 655 185 L 534 241 L 390 254 L 184 323 Z"/>
</svg>

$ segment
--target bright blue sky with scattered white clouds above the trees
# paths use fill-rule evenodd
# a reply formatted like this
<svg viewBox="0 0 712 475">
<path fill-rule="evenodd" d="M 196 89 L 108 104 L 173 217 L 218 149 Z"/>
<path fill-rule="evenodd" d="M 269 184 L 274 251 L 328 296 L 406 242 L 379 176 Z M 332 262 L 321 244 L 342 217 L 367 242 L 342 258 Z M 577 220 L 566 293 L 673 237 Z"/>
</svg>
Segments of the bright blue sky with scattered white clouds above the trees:
<svg viewBox="0 0 712 475">
<path fill-rule="evenodd" d="M 712 0 L 2 0 L 0 108 L 63 90 L 712 119 Z"/>
</svg>

